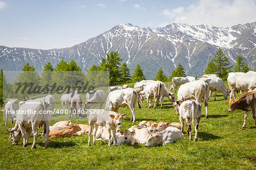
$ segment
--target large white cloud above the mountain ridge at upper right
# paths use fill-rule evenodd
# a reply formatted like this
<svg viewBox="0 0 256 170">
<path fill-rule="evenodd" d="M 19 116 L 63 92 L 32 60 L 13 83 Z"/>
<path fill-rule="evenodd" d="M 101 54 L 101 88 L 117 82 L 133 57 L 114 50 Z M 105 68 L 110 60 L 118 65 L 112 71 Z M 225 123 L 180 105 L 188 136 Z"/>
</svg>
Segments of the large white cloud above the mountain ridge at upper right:
<svg viewBox="0 0 256 170">
<path fill-rule="evenodd" d="M 177 23 L 208 24 L 231 27 L 256 21 L 256 4 L 253 0 L 200 0 L 187 7 L 165 9 L 162 14 Z"/>
</svg>

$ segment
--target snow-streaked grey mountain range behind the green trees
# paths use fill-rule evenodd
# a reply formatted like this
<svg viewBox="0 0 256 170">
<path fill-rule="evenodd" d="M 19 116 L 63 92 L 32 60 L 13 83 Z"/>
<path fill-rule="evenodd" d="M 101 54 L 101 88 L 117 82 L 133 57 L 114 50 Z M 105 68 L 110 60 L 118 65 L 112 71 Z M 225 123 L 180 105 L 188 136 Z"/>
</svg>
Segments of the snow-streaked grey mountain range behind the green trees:
<svg viewBox="0 0 256 170">
<path fill-rule="evenodd" d="M 162 67 L 170 75 L 181 62 L 187 75 L 203 74 L 207 63 L 219 47 L 233 65 L 239 53 L 251 69 L 256 67 L 256 22 L 234 25 L 231 28 L 209 25 L 172 23 L 162 28 L 140 28 L 132 24 L 119 24 L 109 31 L 81 44 L 63 49 L 26 49 L 0 46 L 0 67 L 20 70 L 30 62 L 42 70 L 48 61 L 56 65 L 61 58 L 74 59 L 83 69 L 99 65 L 105 52 L 118 51 L 123 62 L 131 69 L 138 63 L 148 79 Z"/>
</svg>

